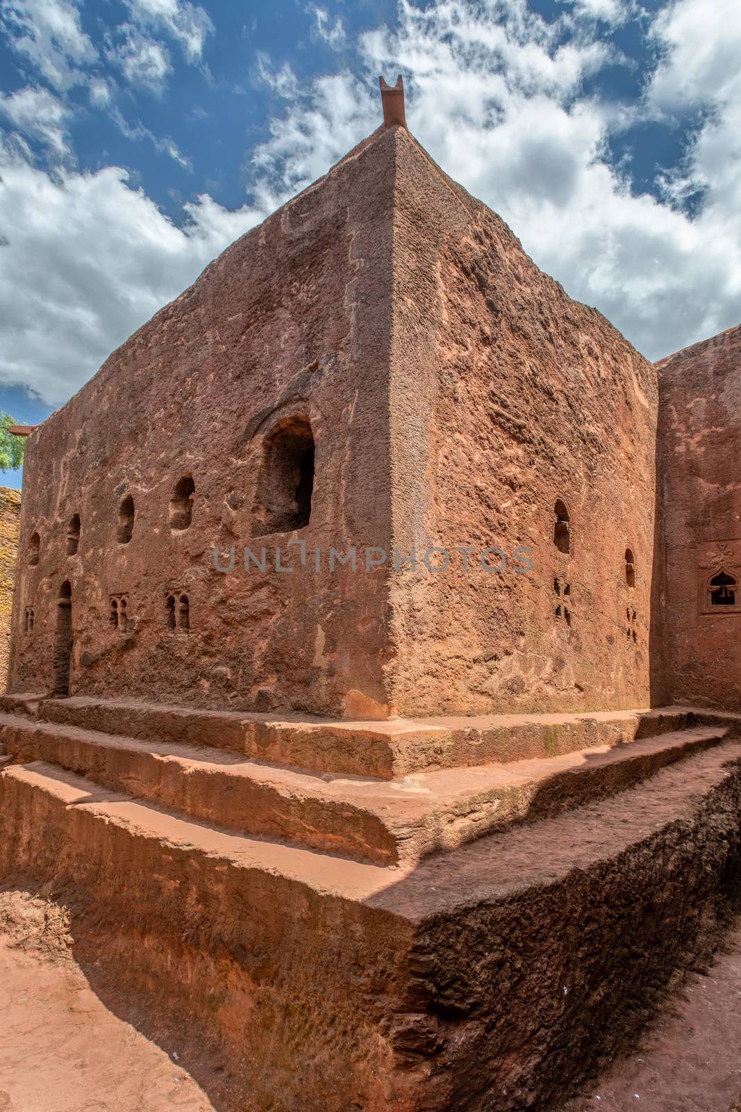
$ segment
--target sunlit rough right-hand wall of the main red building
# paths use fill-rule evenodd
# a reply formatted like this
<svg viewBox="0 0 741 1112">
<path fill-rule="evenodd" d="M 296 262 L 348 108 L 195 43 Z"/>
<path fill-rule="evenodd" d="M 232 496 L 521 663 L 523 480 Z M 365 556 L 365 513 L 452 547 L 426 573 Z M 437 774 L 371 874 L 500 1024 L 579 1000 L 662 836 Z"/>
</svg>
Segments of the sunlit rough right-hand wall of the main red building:
<svg viewBox="0 0 741 1112">
<path fill-rule="evenodd" d="M 393 536 L 400 552 L 437 545 L 451 556 L 449 570 L 394 577 L 394 705 L 648 705 L 653 368 L 405 131 L 393 262 Z M 570 515 L 565 554 L 553 543 L 558 499 Z M 468 573 L 458 546 L 471 548 Z M 505 553 L 501 573 L 481 568 L 488 546 Z"/>
</svg>

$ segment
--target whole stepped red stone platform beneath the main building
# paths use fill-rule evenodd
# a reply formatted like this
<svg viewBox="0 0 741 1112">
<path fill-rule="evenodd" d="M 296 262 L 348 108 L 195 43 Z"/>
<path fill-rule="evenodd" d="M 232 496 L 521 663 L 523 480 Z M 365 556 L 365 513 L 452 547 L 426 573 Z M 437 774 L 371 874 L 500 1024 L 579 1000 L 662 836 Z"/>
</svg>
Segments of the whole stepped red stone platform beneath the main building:
<svg viewBox="0 0 741 1112">
<path fill-rule="evenodd" d="M 91 983 L 226 1063 L 224 1109 L 555 1106 L 735 896 L 733 715 L 2 707 L 6 883 L 69 898 Z"/>
</svg>

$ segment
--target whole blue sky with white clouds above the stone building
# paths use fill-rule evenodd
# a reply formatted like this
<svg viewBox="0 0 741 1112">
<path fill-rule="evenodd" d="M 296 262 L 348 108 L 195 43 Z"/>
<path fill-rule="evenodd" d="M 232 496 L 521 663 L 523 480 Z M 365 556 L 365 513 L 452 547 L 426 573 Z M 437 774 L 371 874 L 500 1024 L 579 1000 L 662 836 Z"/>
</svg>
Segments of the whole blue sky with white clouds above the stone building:
<svg viewBox="0 0 741 1112">
<path fill-rule="evenodd" d="M 739 0 L 0 0 L 0 406 L 62 405 L 373 130 L 379 73 L 649 358 L 735 325 L 740 56 Z"/>
</svg>

